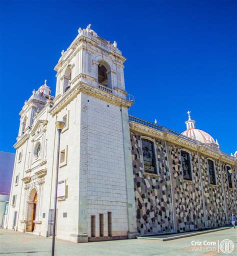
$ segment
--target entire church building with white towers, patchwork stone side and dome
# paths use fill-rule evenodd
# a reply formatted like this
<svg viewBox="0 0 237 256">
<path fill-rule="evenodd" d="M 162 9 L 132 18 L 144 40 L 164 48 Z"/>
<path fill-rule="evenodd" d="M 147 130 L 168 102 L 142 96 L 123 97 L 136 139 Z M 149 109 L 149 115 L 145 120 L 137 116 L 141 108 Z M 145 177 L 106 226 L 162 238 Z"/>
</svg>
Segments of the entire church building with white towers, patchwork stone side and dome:
<svg viewBox="0 0 237 256">
<path fill-rule="evenodd" d="M 73 242 L 135 238 L 223 226 L 235 210 L 236 155 L 187 112 L 177 133 L 128 115 L 125 58 L 90 25 L 61 52 L 55 97 L 46 84 L 20 111 L 5 228 L 52 235 L 56 121 L 56 237 Z"/>
</svg>

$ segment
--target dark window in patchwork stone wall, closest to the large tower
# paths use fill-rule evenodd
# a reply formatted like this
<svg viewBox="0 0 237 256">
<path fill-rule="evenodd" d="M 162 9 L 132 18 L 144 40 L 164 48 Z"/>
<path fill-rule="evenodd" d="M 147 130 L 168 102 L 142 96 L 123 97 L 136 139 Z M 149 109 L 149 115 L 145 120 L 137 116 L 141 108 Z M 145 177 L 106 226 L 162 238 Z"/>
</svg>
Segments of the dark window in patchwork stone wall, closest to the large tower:
<svg viewBox="0 0 237 256">
<path fill-rule="evenodd" d="M 148 139 L 141 139 L 144 172 L 157 173 L 154 142 Z"/>
</svg>

